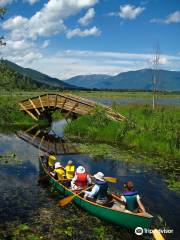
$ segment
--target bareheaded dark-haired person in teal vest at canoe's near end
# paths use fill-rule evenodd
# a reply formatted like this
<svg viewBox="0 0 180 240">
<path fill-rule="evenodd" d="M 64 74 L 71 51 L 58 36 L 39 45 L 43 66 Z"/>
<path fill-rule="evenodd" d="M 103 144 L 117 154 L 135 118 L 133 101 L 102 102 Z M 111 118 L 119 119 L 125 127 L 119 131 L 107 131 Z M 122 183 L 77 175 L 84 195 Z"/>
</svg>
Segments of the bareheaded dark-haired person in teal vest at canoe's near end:
<svg viewBox="0 0 180 240">
<path fill-rule="evenodd" d="M 115 202 L 112 209 L 126 212 L 143 212 L 145 213 L 145 207 L 140 200 L 138 191 L 134 188 L 134 183 L 132 181 L 127 181 L 124 183 L 124 191 L 119 197 L 119 202 Z"/>
</svg>

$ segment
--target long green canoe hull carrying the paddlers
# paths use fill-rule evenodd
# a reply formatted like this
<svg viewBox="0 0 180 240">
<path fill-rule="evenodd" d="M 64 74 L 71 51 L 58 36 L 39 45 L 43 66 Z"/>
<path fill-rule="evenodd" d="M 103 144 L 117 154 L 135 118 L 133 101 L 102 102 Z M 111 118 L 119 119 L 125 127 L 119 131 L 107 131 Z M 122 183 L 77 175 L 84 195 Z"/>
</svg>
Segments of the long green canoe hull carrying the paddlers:
<svg viewBox="0 0 180 240">
<path fill-rule="evenodd" d="M 55 180 L 48 172 L 46 165 L 43 163 L 43 157 L 40 158 L 40 169 L 48 176 L 48 181 L 51 185 L 55 186 L 57 190 L 63 193 L 64 196 L 74 195 L 74 193 L 65 187 L 62 183 Z M 111 208 L 99 205 L 84 199 L 81 196 L 75 196 L 73 201 L 81 208 L 91 213 L 92 215 L 101 218 L 102 220 L 120 225 L 126 228 L 135 229 L 142 227 L 143 229 L 150 229 L 153 216 L 147 214 L 146 216 L 138 215 L 135 213 L 125 213 L 113 210 Z"/>
</svg>

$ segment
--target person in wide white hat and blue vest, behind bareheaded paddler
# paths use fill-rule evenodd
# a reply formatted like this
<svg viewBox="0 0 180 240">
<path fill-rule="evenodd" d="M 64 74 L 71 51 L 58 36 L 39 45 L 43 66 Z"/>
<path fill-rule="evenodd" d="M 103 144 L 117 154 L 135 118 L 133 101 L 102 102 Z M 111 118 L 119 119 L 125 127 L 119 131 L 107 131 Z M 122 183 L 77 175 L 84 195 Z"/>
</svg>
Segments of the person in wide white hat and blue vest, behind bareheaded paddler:
<svg viewBox="0 0 180 240">
<path fill-rule="evenodd" d="M 96 203 L 104 205 L 108 202 L 108 184 L 102 172 L 96 173 L 93 177 L 95 178 L 95 185 L 91 191 L 84 191 L 84 198 L 94 199 Z"/>
</svg>

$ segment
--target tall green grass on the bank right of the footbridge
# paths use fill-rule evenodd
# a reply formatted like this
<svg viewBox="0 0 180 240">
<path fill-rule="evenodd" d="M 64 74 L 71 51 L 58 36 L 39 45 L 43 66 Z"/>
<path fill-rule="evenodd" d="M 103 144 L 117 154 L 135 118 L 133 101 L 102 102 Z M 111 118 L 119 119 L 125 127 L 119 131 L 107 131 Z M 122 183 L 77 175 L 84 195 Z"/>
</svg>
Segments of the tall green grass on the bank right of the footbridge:
<svg viewBox="0 0 180 240">
<path fill-rule="evenodd" d="M 180 157 L 180 107 L 159 107 L 152 111 L 149 106 L 114 105 L 113 109 L 124 114 L 128 121 L 111 121 L 104 109 L 97 108 L 92 115 L 82 116 L 68 124 L 65 134 L 162 156 Z"/>
</svg>

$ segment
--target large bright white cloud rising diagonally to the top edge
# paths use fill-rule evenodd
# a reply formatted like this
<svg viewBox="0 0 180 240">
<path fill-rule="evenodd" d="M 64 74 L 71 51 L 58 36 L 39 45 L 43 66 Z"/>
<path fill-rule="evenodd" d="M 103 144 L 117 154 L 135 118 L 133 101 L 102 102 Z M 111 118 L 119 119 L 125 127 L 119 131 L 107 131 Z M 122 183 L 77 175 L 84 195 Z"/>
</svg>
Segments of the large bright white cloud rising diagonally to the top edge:
<svg viewBox="0 0 180 240">
<path fill-rule="evenodd" d="M 46 37 L 66 30 L 63 20 L 97 3 L 97 0 L 49 0 L 43 8 L 31 18 L 16 16 L 3 24 L 4 29 L 11 30 L 13 38 Z"/>
</svg>

